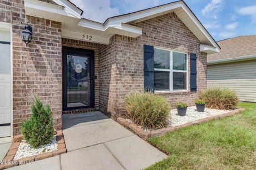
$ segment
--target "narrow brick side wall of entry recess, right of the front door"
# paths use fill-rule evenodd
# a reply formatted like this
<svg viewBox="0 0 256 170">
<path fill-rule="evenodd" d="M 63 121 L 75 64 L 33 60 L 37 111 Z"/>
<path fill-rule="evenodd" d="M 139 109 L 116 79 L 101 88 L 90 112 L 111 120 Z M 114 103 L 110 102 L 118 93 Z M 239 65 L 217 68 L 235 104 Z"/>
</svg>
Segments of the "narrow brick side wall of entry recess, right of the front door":
<svg viewBox="0 0 256 170">
<path fill-rule="evenodd" d="M 107 116 L 117 114 L 117 83 L 119 81 L 119 65 L 117 64 L 117 45 L 115 35 L 110 38 L 109 45 L 99 46 L 99 109 Z"/>
</svg>

